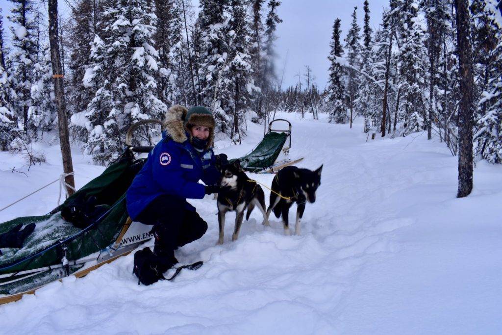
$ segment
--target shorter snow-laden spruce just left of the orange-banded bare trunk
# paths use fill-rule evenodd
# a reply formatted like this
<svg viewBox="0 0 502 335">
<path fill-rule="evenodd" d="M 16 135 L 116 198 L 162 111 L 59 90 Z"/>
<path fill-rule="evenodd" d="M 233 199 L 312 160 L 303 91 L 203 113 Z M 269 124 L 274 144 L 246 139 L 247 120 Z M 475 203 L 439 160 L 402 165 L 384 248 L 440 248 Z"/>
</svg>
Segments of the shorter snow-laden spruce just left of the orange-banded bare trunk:
<svg viewBox="0 0 502 335">
<path fill-rule="evenodd" d="M 44 57 L 35 63 L 34 70 L 37 80 L 31 87 L 31 106 L 28 109 L 28 134 L 35 140 L 43 136 L 43 132 L 57 128 L 57 106 L 52 78 L 51 53 L 47 45 Z M 40 132 L 40 134 L 39 134 Z"/>
</svg>

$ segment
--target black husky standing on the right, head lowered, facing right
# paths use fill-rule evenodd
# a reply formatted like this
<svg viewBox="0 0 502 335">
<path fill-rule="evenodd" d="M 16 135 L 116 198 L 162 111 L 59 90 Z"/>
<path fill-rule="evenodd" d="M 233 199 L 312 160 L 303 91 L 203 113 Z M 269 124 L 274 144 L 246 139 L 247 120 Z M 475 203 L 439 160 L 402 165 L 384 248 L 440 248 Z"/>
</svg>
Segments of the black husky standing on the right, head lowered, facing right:
<svg viewBox="0 0 502 335">
<path fill-rule="evenodd" d="M 282 214 L 284 234 L 291 235 L 289 231 L 289 208 L 296 202 L 295 235 L 301 234 L 300 220 L 305 210 L 305 203 L 315 202 L 315 193 L 321 185 L 322 165 L 315 171 L 300 169 L 296 166 L 287 166 L 279 170 L 272 181 L 270 192 L 270 206 L 267 209 L 267 218 L 273 210 L 276 217 Z M 279 193 L 280 195 L 278 195 Z"/>
</svg>

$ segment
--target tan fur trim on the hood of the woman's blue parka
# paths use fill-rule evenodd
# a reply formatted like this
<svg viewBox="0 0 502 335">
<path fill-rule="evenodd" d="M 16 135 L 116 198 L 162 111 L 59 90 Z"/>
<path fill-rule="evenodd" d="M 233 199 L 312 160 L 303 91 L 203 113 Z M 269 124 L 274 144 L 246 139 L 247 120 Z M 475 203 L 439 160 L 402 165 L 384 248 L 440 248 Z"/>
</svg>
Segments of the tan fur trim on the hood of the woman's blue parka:
<svg viewBox="0 0 502 335">
<path fill-rule="evenodd" d="M 190 131 L 185 127 L 185 118 L 188 109 L 182 105 L 171 106 L 164 119 L 164 128 L 166 135 L 171 137 L 174 142 L 183 143 L 191 137 Z M 209 138 L 206 150 L 212 148 L 214 141 L 214 127 L 209 127 Z"/>
</svg>

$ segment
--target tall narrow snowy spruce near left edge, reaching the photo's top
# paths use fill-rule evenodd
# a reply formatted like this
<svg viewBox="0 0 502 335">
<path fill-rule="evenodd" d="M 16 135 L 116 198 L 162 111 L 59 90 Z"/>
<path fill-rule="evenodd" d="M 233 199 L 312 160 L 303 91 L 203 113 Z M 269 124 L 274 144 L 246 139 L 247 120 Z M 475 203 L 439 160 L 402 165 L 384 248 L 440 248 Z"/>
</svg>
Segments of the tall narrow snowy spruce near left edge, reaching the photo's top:
<svg viewBox="0 0 502 335">
<path fill-rule="evenodd" d="M 14 78 L 16 99 L 13 99 L 12 106 L 14 113 L 23 120 L 24 128 L 28 123 L 28 108 L 30 107 L 30 90 L 33 86 L 34 60 L 37 58 L 36 26 L 33 21 L 35 9 L 32 0 L 10 0 L 14 7 L 8 17 L 13 23 L 12 61 L 15 65 Z"/>
</svg>

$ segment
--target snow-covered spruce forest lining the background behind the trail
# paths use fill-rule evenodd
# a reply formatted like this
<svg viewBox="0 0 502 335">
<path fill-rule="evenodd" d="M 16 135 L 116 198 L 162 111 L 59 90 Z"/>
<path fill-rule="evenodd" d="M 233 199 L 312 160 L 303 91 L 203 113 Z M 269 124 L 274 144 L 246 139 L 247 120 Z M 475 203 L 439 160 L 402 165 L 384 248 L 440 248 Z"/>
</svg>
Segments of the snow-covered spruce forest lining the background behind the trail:
<svg viewBox="0 0 502 335">
<path fill-rule="evenodd" d="M 57 105 L 45 5 L 11 2 L 10 32 L 0 22 L 0 149 L 23 151 L 57 129 Z M 284 87 L 274 42 L 285 5 L 277 0 L 201 0 L 197 9 L 190 0 L 68 4 L 59 47 L 70 133 L 97 164 L 123 150 L 134 122 L 162 119 L 173 104 L 209 107 L 219 135 L 235 143 L 245 136 L 247 112 L 266 124 L 286 110 L 329 114 L 349 127 L 363 118 L 354 131 L 368 138 L 427 131 L 458 153 L 454 0 L 390 0 L 376 29 L 361 1 L 345 39 L 333 18 L 324 88 L 308 66 L 295 86 Z M 502 163 L 502 9 L 496 0 L 474 0 L 469 11 L 474 161 Z"/>
</svg>

